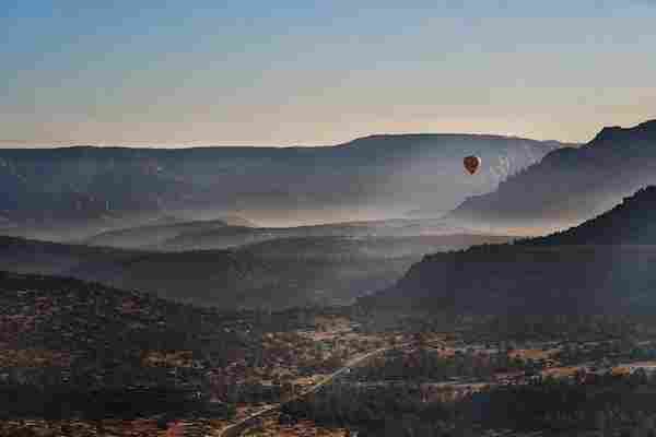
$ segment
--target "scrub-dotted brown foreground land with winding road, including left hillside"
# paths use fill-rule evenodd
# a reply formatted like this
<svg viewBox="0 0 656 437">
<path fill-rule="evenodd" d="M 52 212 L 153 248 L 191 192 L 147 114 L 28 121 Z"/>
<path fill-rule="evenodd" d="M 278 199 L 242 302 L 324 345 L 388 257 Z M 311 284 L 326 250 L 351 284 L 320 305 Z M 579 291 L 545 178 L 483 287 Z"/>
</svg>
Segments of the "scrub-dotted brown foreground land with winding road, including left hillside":
<svg viewBox="0 0 656 437">
<path fill-rule="evenodd" d="M 222 312 L 1 279 L 2 436 L 564 436 L 656 424 L 648 317 Z"/>
</svg>

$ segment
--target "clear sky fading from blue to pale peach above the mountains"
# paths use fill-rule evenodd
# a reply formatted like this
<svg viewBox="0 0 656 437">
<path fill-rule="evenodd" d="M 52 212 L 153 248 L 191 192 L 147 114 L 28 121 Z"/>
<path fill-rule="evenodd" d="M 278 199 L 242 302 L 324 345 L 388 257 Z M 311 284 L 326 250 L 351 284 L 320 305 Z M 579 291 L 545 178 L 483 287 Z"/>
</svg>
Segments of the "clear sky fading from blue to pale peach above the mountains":
<svg viewBox="0 0 656 437">
<path fill-rule="evenodd" d="M 651 0 L 1 3 L 1 140 L 585 141 L 656 118 Z"/>
</svg>

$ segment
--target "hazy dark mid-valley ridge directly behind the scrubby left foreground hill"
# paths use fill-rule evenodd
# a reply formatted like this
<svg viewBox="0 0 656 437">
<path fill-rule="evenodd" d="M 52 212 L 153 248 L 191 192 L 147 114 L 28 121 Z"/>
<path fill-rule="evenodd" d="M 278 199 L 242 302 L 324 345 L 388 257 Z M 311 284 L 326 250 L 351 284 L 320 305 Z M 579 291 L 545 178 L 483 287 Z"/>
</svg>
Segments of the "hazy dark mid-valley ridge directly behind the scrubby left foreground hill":
<svg viewBox="0 0 656 437">
<path fill-rule="evenodd" d="M 423 253 L 505 240 L 478 235 L 290 237 L 230 250 L 162 252 L 0 237 L 0 264 L 223 309 L 281 308 L 349 303 L 391 285 Z"/>
</svg>

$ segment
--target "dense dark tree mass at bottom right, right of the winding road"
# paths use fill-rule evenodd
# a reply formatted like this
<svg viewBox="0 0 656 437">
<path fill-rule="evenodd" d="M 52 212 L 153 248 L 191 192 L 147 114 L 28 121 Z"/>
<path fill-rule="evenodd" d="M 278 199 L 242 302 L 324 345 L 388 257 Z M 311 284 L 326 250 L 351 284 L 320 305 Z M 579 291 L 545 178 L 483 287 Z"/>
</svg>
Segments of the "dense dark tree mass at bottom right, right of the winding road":
<svg viewBox="0 0 656 437">
<path fill-rule="evenodd" d="M 586 382 L 543 379 L 504 386 L 455 402 L 422 402 L 419 385 L 336 385 L 284 413 L 363 436 L 472 436 L 489 429 L 552 435 L 655 436 L 656 377 L 599 376 Z"/>
</svg>

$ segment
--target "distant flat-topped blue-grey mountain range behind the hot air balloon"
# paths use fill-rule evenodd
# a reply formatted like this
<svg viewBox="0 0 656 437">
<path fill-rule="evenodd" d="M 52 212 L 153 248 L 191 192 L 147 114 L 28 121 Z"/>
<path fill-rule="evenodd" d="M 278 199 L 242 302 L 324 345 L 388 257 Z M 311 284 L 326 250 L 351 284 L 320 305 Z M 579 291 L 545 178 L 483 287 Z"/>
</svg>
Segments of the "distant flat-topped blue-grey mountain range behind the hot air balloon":
<svg viewBox="0 0 656 437">
<path fill-rule="evenodd" d="M 19 226 L 14 235 L 25 226 L 74 229 L 98 221 L 107 228 L 115 217 L 175 213 L 211 218 L 238 211 L 288 225 L 399 216 L 436 204 L 450 209 L 561 145 L 402 134 L 326 147 L 3 149 L 0 216 Z M 485 163 L 476 178 L 461 168 L 471 153 Z"/>
</svg>

